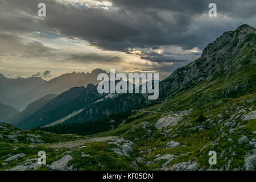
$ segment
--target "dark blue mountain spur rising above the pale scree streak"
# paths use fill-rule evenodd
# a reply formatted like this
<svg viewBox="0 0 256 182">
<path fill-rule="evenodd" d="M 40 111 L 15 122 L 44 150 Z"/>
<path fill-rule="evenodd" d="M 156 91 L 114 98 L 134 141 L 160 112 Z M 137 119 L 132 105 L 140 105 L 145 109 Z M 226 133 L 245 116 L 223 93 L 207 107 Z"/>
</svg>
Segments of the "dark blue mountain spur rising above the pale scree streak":
<svg viewBox="0 0 256 182">
<path fill-rule="evenodd" d="M 96 86 L 89 84 L 86 86 L 74 87 L 59 96 L 53 98 L 40 110 L 31 114 L 29 117 L 20 120 L 18 127 L 28 129 L 31 127 L 44 126 L 57 121 L 73 111 L 84 108 L 100 98 Z"/>
</svg>

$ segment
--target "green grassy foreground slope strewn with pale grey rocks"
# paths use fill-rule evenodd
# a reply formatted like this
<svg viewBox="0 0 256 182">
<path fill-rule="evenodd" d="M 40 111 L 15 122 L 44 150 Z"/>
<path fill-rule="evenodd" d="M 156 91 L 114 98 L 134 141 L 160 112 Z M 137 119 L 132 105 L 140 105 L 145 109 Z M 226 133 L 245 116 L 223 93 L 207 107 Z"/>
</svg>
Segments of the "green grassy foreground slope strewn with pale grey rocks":
<svg viewBox="0 0 256 182">
<path fill-rule="evenodd" d="M 238 100 L 208 105 L 201 119 L 192 109 L 166 113 L 153 106 L 118 129 L 87 137 L 0 123 L 0 169 L 255 170 L 255 97 Z M 216 165 L 208 163 L 211 150 Z M 39 151 L 46 165 L 38 164 Z"/>
</svg>

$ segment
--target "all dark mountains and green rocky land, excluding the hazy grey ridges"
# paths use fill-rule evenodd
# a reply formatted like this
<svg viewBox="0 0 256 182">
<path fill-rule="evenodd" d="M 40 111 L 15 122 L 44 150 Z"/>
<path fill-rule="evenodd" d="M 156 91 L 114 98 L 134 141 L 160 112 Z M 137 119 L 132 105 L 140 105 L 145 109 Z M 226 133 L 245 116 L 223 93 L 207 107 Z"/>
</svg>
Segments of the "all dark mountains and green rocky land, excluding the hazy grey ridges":
<svg viewBox="0 0 256 182">
<path fill-rule="evenodd" d="M 224 32 L 159 82 L 156 101 L 99 94 L 94 84 L 35 101 L 16 122 L 21 129 L 0 123 L 0 169 L 253 171 L 255 45 L 247 24 Z M 47 163 L 40 166 L 42 150 Z"/>
</svg>

